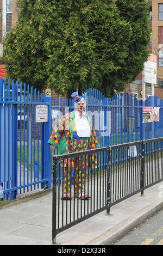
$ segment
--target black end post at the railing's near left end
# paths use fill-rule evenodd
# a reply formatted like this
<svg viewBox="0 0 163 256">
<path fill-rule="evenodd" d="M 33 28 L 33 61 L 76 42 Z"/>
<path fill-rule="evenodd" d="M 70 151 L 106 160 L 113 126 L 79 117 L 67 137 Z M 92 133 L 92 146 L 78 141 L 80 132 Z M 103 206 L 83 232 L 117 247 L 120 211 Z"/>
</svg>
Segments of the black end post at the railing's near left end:
<svg viewBox="0 0 163 256">
<path fill-rule="evenodd" d="M 57 222 L 57 156 L 53 156 L 52 243 L 56 243 Z"/>
</svg>

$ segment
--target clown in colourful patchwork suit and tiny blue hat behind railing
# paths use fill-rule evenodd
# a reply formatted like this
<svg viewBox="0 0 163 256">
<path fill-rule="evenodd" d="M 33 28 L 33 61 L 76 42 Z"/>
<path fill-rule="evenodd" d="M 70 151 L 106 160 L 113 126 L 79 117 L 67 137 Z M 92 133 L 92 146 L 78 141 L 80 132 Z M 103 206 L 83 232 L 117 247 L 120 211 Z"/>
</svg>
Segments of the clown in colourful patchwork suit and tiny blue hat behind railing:
<svg viewBox="0 0 163 256">
<path fill-rule="evenodd" d="M 92 127 L 91 120 L 86 115 L 86 103 L 82 96 L 77 92 L 71 95 L 74 100 L 74 111 L 67 113 L 62 117 L 57 126 L 54 128 L 48 143 L 51 144 L 51 151 L 58 147 L 60 154 L 83 151 L 87 149 L 99 148 L 96 132 Z M 67 161 L 67 160 L 66 160 Z M 95 157 L 92 156 L 93 166 L 97 164 Z M 88 170 L 88 156 L 85 160 L 78 157 L 78 160 L 70 160 L 64 163 L 64 194 L 61 199 L 71 199 L 71 168 L 74 167 L 74 194 L 79 199 L 89 199 L 90 197 L 84 192 L 84 182 Z"/>
</svg>

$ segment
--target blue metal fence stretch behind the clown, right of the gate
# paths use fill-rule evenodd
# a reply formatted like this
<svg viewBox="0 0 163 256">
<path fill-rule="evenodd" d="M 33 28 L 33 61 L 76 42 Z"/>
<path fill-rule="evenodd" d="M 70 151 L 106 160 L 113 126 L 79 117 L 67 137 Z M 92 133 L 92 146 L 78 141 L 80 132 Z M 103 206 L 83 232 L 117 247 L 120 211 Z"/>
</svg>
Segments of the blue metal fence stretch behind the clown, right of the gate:
<svg viewBox="0 0 163 256">
<path fill-rule="evenodd" d="M 157 96 L 142 101 L 132 94 L 121 93 L 109 99 L 98 90 L 89 89 L 83 97 L 101 147 L 163 136 L 163 100 Z M 142 123 L 143 107 L 160 107 L 159 121 Z M 60 113 L 53 120 L 56 124 L 61 115 L 73 111 L 73 100 L 54 99 L 52 109 Z"/>
</svg>

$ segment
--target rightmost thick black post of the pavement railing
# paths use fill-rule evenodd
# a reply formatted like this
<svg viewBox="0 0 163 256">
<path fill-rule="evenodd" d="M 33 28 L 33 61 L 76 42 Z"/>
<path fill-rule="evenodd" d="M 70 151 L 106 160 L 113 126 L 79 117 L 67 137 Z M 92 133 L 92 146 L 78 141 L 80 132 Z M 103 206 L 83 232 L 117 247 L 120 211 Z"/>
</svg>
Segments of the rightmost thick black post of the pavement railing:
<svg viewBox="0 0 163 256">
<path fill-rule="evenodd" d="M 143 196 L 145 186 L 145 141 L 141 144 L 141 174 L 140 174 L 140 189 Z"/>
</svg>

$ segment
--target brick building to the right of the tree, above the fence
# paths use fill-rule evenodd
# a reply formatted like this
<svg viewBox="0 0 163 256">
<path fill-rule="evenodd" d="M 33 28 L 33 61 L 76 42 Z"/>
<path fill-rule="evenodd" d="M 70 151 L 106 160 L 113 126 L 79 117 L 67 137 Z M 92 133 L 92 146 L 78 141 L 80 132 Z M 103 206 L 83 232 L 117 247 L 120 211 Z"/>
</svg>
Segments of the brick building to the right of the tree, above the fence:
<svg viewBox="0 0 163 256">
<path fill-rule="evenodd" d="M 152 84 L 146 83 L 146 97 L 155 95 L 163 99 L 163 0 L 148 0 L 148 5 L 149 27 L 152 28 L 148 50 L 157 57 L 157 83 L 153 87 Z M 125 91 L 142 99 L 142 73 L 133 83 L 127 85 Z"/>
</svg>

